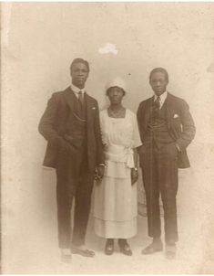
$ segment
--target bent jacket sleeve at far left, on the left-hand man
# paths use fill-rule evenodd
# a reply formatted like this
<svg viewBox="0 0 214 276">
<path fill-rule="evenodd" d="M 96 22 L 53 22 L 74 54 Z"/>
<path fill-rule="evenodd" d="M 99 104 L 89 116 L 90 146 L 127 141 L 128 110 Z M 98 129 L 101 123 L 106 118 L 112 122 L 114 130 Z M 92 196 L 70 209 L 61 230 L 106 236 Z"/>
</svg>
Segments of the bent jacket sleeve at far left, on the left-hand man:
<svg viewBox="0 0 214 276">
<path fill-rule="evenodd" d="M 54 93 L 47 102 L 46 111 L 38 125 L 38 132 L 42 134 L 49 143 L 56 145 L 59 145 L 63 140 L 55 129 L 58 101 L 58 97 L 56 97 Z"/>
</svg>

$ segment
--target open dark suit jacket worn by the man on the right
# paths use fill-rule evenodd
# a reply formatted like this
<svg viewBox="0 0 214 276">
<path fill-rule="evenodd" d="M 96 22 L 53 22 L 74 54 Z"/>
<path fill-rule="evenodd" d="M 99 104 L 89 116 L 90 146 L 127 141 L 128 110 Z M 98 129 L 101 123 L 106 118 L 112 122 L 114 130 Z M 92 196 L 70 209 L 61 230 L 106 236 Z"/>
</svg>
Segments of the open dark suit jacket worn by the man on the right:
<svg viewBox="0 0 214 276">
<path fill-rule="evenodd" d="M 148 122 L 152 111 L 154 97 L 141 101 L 138 107 L 138 127 L 142 143 L 148 129 Z M 181 152 L 178 153 L 178 167 L 189 167 L 189 158 L 186 148 L 195 136 L 196 128 L 192 116 L 189 113 L 189 105 L 186 101 L 168 93 L 165 101 L 167 109 L 168 133 L 178 143 Z"/>
</svg>

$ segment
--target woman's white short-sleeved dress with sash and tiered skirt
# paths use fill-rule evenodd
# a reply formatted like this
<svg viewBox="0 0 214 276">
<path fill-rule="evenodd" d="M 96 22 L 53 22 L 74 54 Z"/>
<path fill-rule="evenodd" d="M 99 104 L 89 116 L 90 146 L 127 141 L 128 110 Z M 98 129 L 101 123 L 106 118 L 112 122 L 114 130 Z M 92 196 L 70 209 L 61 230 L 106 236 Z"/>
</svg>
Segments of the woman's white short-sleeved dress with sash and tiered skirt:
<svg viewBox="0 0 214 276">
<path fill-rule="evenodd" d="M 133 148 L 141 144 L 136 115 L 126 110 L 125 118 L 111 118 L 100 112 L 106 167 L 95 185 L 94 218 L 97 236 L 129 239 L 137 234 L 137 184 L 131 185 Z"/>
</svg>

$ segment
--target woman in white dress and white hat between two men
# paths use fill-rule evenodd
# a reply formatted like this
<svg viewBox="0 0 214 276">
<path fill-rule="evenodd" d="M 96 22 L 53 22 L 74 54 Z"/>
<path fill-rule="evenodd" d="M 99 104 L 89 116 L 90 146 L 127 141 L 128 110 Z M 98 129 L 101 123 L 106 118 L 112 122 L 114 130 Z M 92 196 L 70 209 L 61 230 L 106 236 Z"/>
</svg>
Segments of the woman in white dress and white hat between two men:
<svg viewBox="0 0 214 276">
<path fill-rule="evenodd" d="M 132 255 L 127 239 L 137 234 L 138 154 L 141 145 L 136 115 L 123 107 L 126 93 L 123 80 L 107 85 L 110 106 L 100 112 L 106 156 L 105 175 L 95 186 L 95 232 L 107 239 L 105 253 L 114 252 L 114 239 L 122 253 Z"/>
</svg>

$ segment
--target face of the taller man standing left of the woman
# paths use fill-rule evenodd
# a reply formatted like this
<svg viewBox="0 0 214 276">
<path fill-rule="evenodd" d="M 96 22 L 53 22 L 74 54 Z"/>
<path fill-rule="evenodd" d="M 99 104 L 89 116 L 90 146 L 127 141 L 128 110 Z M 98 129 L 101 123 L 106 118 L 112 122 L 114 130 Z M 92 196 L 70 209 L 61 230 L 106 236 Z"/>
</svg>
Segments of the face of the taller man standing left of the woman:
<svg viewBox="0 0 214 276">
<path fill-rule="evenodd" d="M 72 83 L 79 89 L 85 87 L 85 83 L 88 77 L 88 70 L 85 63 L 76 62 L 71 69 Z"/>
</svg>

